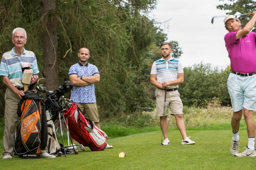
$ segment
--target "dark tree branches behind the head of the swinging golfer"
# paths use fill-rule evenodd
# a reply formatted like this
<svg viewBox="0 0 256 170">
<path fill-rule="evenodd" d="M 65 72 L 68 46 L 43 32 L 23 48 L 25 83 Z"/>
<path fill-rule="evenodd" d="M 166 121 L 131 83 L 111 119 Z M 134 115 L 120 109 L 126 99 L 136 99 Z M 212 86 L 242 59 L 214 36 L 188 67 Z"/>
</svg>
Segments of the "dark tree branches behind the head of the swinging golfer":
<svg viewBox="0 0 256 170">
<path fill-rule="evenodd" d="M 224 1 L 224 0 L 219 0 Z M 256 10 L 256 1 L 252 0 L 228 0 L 230 3 L 218 5 L 217 8 L 221 10 L 229 10 L 227 14 L 246 14 L 251 13 Z M 245 26 L 247 22 L 252 18 L 251 15 L 242 15 L 237 16 L 240 19 L 242 26 Z M 253 32 L 256 32 L 256 28 L 252 29 Z"/>
</svg>

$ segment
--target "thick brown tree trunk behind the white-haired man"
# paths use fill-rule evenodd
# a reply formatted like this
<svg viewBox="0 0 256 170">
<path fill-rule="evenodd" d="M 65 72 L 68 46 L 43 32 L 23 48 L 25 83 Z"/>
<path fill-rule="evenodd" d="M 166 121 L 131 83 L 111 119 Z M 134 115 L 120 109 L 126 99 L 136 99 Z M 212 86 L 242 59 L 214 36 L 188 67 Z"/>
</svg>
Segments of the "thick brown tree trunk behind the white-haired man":
<svg viewBox="0 0 256 170">
<path fill-rule="evenodd" d="M 54 90 L 59 86 L 59 62 L 57 24 L 54 13 L 55 0 L 41 0 L 42 46 L 44 57 L 43 75 L 46 78 L 45 87 Z"/>
</svg>

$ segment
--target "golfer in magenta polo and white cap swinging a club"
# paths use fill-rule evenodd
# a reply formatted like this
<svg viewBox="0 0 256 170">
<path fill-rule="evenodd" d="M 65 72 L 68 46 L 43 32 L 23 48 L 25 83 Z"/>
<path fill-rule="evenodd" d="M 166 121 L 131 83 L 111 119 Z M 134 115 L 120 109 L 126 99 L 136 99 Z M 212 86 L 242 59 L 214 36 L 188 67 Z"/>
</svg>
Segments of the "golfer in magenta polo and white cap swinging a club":
<svg viewBox="0 0 256 170">
<path fill-rule="evenodd" d="M 241 29 L 240 20 L 234 15 L 228 15 L 224 24 L 229 33 L 224 37 L 231 63 L 231 73 L 228 76 L 228 92 L 233 107 L 231 120 L 233 139 L 230 153 L 237 157 L 256 157 L 255 123 L 252 111 L 256 110 L 256 33 L 250 32 L 255 26 L 256 11 L 252 19 Z M 248 145 L 238 153 L 240 120 L 243 115 L 247 125 Z"/>
</svg>

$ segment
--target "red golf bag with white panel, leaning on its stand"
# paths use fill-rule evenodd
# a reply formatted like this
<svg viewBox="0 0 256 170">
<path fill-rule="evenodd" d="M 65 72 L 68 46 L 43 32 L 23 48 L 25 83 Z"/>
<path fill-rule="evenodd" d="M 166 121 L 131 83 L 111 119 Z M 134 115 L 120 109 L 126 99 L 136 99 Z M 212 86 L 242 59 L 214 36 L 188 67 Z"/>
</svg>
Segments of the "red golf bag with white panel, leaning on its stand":
<svg viewBox="0 0 256 170">
<path fill-rule="evenodd" d="M 91 151 L 102 151 L 106 148 L 107 134 L 95 126 L 92 120 L 87 119 L 74 102 L 63 114 L 68 119 L 70 136 L 79 144 L 88 146 Z"/>
</svg>

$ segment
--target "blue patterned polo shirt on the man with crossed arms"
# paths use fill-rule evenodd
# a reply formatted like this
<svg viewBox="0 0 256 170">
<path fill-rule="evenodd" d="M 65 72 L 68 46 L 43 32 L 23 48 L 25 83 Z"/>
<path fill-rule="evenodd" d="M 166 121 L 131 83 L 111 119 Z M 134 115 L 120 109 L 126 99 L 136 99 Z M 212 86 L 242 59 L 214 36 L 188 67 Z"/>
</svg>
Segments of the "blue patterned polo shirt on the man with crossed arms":
<svg viewBox="0 0 256 170">
<path fill-rule="evenodd" d="M 90 77 L 94 74 L 100 74 L 98 68 L 90 63 L 85 65 L 76 63 L 72 65 L 68 71 L 68 75 L 76 74 L 77 77 Z M 96 96 L 94 92 L 94 84 L 86 86 L 75 86 L 71 91 L 71 100 L 75 103 L 96 103 Z"/>
</svg>

